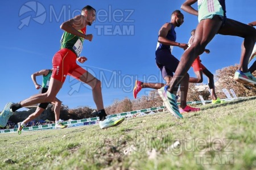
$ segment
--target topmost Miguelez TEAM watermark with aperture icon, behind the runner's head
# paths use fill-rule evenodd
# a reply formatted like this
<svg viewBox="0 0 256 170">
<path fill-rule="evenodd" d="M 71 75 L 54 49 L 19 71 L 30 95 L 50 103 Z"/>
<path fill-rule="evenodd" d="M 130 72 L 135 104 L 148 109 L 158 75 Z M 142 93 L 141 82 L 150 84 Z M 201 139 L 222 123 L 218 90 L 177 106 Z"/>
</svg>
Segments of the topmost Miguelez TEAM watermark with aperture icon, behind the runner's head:
<svg viewBox="0 0 256 170">
<path fill-rule="evenodd" d="M 36 23 L 44 24 L 48 22 L 65 22 L 68 19 L 80 15 L 81 10 L 72 9 L 71 5 L 48 7 L 37 1 L 26 2 L 20 7 L 19 29 L 27 26 L 34 20 Z M 101 36 L 133 36 L 135 35 L 135 20 L 133 19 L 133 9 L 113 9 L 111 5 L 107 9 L 97 10 L 96 28 L 97 35 Z"/>
</svg>

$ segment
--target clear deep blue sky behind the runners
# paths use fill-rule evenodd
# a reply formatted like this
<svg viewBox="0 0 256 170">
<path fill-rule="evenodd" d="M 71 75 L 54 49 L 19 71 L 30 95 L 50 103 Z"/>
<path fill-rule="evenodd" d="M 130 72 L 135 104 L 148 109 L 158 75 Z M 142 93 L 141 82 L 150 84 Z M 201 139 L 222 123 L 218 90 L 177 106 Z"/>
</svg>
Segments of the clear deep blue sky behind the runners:
<svg viewBox="0 0 256 170">
<path fill-rule="evenodd" d="M 81 64 L 102 80 L 105 107 L 115 99 L 133 99 L 135 79 L 163 82 L 155 65 L 155 48 L 159 28 L 170 22 L 172 11 L 180 9 L 183 1 L 2 1 L 1 11 L 1 85 L 0 110 L 9 101 L 18 102 L 37 94 L 30 75 L 41 69 L 51 69 L 52 57 L 59 50 L 63 30 L 60 24 L 80 14 L 85 5 L 97 10 L 97 20 L 87 28 L 94 35 L 85 41 Z M 228 18 L 249 23 L 255 18 L 255 0 L 226 1 Z M 195 6 L 196 7 L 196 6 Z M 176 28 L 177 42 L 187 43 L 197 17 L 184 11 L 184 23 Z M 201 60 L 208 70 L 234 65 L 240 61 L 240 37 L 217 35 L 207 46 L 210 54 Z M 174 48 L 180 59 L 183 50 Z M 189 74 L 194 76 L 192 69 Z M 207 78 L 204 77 L 206 80 Z M 38 77 L 38 83 L 42 78 Z M 206 81 L 205 81 L 206 82 Z M 139 97 L 146 95 L 142 90 Z M 96 108 L 92 91 L 68 77 L 57 95 L 69 108 Z"/>
</svg>

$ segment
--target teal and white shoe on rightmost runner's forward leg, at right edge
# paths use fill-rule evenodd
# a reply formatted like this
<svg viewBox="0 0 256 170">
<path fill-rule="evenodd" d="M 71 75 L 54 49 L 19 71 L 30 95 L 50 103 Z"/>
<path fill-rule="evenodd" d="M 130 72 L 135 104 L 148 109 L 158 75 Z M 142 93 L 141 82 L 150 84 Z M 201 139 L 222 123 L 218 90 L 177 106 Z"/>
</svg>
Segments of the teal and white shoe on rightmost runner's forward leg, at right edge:
<svg viewBox="0 0 256 170">
<path fill-rule="evenodd" d="M 247 86 L 256 86 L 256 78 L 250 72 L 243 73 L 237 70 L 234 75 L 234 80 Z"/>
</svg>

